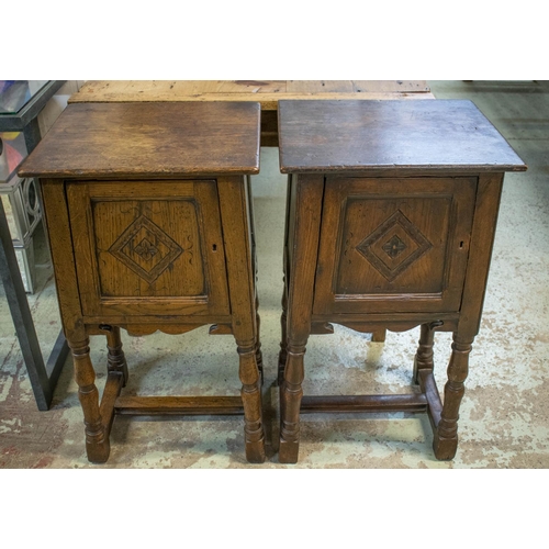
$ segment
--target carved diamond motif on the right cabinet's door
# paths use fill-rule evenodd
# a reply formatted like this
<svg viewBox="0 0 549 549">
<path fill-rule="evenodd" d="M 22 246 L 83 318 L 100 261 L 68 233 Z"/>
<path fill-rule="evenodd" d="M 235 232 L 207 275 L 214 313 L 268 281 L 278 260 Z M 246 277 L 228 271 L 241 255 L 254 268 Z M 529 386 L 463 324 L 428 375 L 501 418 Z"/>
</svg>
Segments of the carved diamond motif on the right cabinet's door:
<svg viewBox="0 0 549 549">
<path fill-rule="evenodd" d="M 419 229 L 397 210 L 357 250 L 392 282 L 433 247 Z"/>
</svg>

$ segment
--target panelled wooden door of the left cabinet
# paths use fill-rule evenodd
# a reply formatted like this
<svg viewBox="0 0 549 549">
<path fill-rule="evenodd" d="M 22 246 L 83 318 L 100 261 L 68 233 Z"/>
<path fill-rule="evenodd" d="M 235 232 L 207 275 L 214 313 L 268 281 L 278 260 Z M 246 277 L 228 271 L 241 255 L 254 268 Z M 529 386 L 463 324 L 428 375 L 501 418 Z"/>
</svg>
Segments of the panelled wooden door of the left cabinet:
<svg viewBox="0 0 549 549">
<path fill-rule="evenodd" d="M 67 198 L 85 316 L 228 314 L 214 180 L 69 182 Z"/>
</svg>

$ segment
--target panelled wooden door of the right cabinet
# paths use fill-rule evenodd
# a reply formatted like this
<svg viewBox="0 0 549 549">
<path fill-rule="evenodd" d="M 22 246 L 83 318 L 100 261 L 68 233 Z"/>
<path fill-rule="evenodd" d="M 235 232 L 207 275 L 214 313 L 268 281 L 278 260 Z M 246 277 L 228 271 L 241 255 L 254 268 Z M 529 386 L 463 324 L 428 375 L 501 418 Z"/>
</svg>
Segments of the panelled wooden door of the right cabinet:
<svg viewBox="0 0 549 549">
<path fill-rule="evenodd" d="M 477 178 L 326 179 L 315 314 L 456 312 Z"/>
</svg>

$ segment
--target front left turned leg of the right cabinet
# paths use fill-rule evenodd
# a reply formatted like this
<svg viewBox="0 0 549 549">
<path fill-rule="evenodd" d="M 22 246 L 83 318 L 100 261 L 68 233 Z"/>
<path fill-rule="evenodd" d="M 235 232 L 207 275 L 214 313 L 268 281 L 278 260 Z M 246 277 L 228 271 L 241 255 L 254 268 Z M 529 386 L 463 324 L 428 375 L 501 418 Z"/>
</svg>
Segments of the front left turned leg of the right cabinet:
<svg viewBox="0 0 549 549">
<path fill-rule="evenodd" d="M 304 379 L 305 345 L 288 346 L 284 379 L 280 386 L 280 448 L 281 463 L 296 463 L 300 450 L 300 407 Z"/>
</svg>

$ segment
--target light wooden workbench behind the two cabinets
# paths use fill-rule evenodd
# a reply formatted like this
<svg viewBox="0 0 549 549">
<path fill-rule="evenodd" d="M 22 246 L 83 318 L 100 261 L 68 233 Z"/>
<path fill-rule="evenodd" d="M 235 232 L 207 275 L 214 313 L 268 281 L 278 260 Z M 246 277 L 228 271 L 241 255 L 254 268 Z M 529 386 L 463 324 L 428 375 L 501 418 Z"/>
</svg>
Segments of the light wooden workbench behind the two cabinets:
<svg viewBox="0 0 549 549">
<path fill-rule="evenodd" d="M 278 146 L 282 99 L 434 99 L 425 80 L 89 80 L 71 103 L 133 101 L 256 101 L 261 146 Z"/>
</svg>

